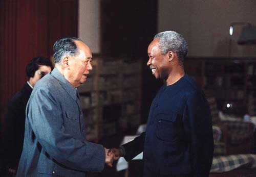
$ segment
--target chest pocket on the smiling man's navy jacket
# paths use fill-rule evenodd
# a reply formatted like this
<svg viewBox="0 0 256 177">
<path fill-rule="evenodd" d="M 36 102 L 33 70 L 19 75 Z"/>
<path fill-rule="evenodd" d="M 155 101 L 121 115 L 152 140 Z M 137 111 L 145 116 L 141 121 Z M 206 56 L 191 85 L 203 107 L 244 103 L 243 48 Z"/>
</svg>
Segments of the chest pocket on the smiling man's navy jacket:
<svg viewBox="0 0 256 177">
<path fill-rule="evenodd" d="M 163 141 L 176 142 L 183 134 L 181 114 L 159 114 L 157 117 L 157 138 Z"/>
</svg>

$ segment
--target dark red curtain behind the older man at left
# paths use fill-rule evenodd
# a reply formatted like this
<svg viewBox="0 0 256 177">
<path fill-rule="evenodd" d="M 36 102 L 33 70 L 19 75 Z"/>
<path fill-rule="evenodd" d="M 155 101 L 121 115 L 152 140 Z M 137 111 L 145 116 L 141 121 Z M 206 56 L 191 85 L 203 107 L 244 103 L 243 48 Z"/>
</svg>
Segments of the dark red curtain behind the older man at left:
<svg viewBox="0 0 256 177">
<path fill-rule="evenodd" d="M 4 129 L 7 104 L 25 82 L 33 57 L 50 57 L 53 43 L 77 37 L 78 0 L 0 1 L 0 120 Z"/>
</svg>

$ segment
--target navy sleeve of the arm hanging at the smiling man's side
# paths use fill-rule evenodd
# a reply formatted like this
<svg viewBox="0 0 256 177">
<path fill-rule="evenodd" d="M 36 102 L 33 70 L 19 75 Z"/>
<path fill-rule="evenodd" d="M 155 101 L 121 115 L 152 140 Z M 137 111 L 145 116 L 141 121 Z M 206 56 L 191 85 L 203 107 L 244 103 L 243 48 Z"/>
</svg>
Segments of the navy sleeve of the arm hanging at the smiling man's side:
<svg viewBox="0 0 256 177">
<path fill-rule="evenodd" d="M 210 109 L 203 92 L 188 96 L 185 115 L 185 129 L 190 137 L 193 176 L 208 176 L 213 158 L 214 138 Z"/>
</svg>

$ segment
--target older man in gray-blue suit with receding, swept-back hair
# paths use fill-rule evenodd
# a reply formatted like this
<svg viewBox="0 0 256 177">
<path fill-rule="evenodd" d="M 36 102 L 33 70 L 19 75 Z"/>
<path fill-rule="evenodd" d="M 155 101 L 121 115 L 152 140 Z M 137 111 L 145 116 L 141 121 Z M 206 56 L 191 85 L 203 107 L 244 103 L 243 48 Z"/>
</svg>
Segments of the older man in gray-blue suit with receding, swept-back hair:
<svg viewBox="0 0 256 177">
<path fill-rule="evenodd" d="M 26 108 L 17 176 L 86 176 L 112 166 L 114 154 L 86 140 L 76 87 L 92 70 L 92 53 L 79 38 L 53 46 L 55 68 L 38 81 Z"/>
</svg>

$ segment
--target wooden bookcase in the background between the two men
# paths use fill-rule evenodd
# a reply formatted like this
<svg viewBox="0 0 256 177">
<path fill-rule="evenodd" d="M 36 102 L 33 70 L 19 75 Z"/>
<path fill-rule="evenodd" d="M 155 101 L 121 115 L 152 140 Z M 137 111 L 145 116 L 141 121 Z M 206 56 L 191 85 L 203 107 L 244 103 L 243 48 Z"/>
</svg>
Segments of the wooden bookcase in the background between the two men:
<svg viewBox="0 0 256 177">
<path fill-rule="evenodd" d="M 140 124 L 141 61 L 96 57 L 78 87 L 87 139 L 98 141 Z"/>
</svg>

